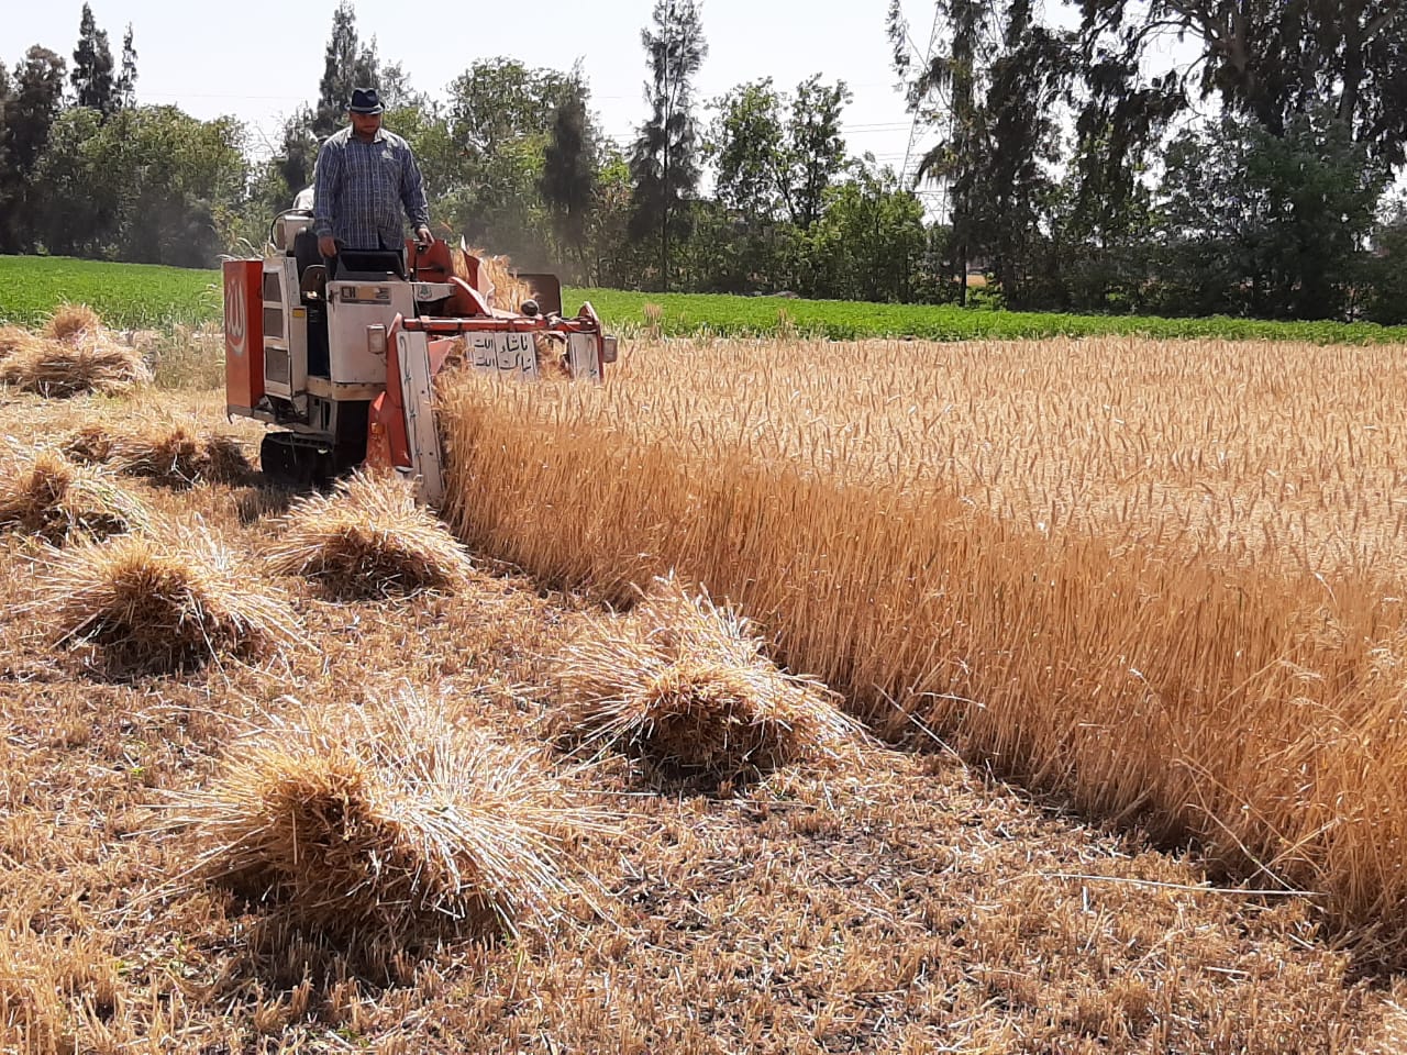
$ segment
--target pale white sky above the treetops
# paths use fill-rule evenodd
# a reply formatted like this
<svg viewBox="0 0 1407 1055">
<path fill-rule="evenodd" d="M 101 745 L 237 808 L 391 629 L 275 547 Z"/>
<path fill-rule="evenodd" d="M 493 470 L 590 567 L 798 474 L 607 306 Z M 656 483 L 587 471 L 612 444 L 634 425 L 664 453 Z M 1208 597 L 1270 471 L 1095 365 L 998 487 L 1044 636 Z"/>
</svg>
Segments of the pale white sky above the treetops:
<svg viewBox="0 0 1407 1055">
<path fill-rule="evenodd" d="M 132 25 L 138 53 L 136 96 L 144 104 L 176 104 L 208 120 L 245 122 L 253 153 L 277 142 L 283 118 L 318 94 L 322 51 L 336 0 L 90 0 L 114 59 Z M 581 59 L 592 108 L 605 132 L 626 142 L 644 120 L 644 51 L 640 30 L 654 0 L 535 0 L 516 6 L 407 4 L 355 0 L 362 39 L 376 37 L 383 60 L 401 62 L 414 87 L 443 97 L 476 59 L 505 55 L 529 66 L 570 69 Z M 72 62 L 82 0 L 0 0 L 0 59 L 13 68 L 31 44 Z M 885 35 L 888 0 L 702 0 L 709 55 L 696 79 L 706 101 L 744 80 L 770 76 L 792 89 L 813 73 L 844 80 L 854 101 L 844 114 L 851 155 L 874 153 L 900 169 L 910 118 L 896 90 Z M 927 45 L 931 4 L 909 0 L 906 14 Z M 463 14 L 453 14 L 456 10 Z M 474 11 L 481 11 L 476 17 Z M 416 17 L 424 11 L 424 17 Z M 530 13 L 530 14 L 526 14 Z M 916 143 L 917 155 L 927 141 Z"/>
</svg>

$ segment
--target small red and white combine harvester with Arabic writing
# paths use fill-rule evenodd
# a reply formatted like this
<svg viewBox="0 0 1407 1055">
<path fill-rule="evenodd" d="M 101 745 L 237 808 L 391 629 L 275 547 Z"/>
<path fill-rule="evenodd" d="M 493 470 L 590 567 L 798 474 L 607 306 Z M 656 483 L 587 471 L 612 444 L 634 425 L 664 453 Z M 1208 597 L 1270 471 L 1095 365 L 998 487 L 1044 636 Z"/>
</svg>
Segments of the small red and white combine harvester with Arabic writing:
<svg viewBox="0 0 1407 1055">
<path fill-rule="evenodd" d="M 601 381 L 616 359 L 590 304 L 561 316 L 550 274 L 519 276 L 535 300 L 502 311 L 480 260 L 464 253 L 456 274 L 445 242 L 408 241 L 404 256 L 343 250 L 329 264 L 300 211 L 280 214 L 269 241 L 277 255 L 224 264 L 225 405 L 279 426 L 259 449 L 277 482 L 308 488 L 360 464 L 393 467 L 438 506 L 436 376 L 470 367 Z"/>
</svg>

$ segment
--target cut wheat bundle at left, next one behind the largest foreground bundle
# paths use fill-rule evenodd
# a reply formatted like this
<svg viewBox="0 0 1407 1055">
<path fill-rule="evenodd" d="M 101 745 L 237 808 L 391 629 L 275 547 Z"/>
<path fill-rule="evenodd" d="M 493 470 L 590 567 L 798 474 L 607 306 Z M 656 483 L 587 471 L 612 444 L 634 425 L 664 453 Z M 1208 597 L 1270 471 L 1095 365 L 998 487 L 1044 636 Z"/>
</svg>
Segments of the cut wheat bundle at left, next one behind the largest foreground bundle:
<svg viewBox="0 0 1407 1055">
<path fill-rule="evenodd" d="M 55 551 L 32 610 L 114 674 L 257 658 L 294 639 L 286 603 L 248 561 L 184 525 Z"/>
</svg>

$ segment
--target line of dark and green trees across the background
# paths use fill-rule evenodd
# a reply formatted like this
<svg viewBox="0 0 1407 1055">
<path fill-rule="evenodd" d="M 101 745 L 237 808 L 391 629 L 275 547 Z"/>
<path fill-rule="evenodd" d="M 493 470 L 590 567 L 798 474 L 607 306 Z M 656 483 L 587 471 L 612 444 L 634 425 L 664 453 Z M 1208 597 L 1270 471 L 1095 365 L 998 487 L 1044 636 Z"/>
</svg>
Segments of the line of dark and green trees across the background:
<svg viewBox="0 0 1407 1055">
<path fill-rule="evenodd" d="M 892 72 L 934 145 L 910 179 L 854 156 L 822 75 L 699 100 L 698 0 L 640 35 L 647 110 L 616 143 L 580 68 L 476 60 L 431 98 L 332 17 L 318 98 L 256 160 L 249 128 L 142 106 L 87 4 L 70 58 L 0 66 L 0 252 L 210 266 L 262 246 L 355 86 L 416 152 L 439 234 L 619 288 L 1026 309 L 1407 321 L 1400 0 L 892 0 Z M 927 21 L 927 20 L 926 20 Z M 879 27 L 877 27 L 879 28 Z M 1185 68 L 1150 56 L 1168 35 Z M 919 49 L 915 41 L 933 39 Z M 936 193 L 924 208 L 917 191 Z"/>
</svg>

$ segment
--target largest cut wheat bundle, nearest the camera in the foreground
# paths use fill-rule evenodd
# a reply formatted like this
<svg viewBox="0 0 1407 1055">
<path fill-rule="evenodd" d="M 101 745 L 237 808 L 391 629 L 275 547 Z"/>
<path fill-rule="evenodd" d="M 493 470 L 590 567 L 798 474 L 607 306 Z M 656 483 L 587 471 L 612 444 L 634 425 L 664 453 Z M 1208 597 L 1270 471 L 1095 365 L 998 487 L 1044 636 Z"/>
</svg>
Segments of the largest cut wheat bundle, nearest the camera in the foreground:
<svg viewBox="0 0 1407 1055">
<path fill-rule="evenodd" d="M 324 934 L 412 938 L 546 923 L 566 889 L 563 841 L 601 820 L 537 753 L 405 689 L 303 708 L 245 737 L 160 824 L 196 854 L 187 878 Z"/>
</svg>

